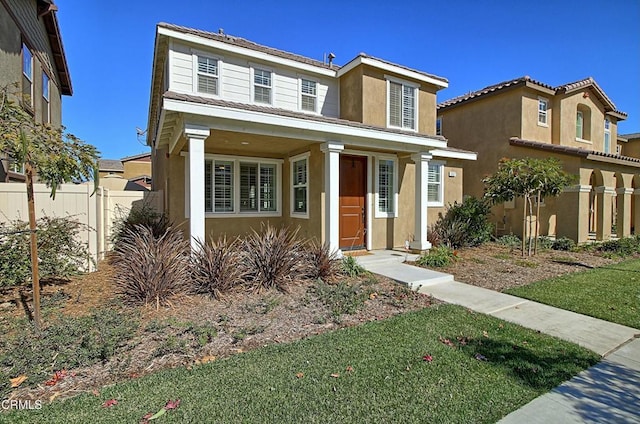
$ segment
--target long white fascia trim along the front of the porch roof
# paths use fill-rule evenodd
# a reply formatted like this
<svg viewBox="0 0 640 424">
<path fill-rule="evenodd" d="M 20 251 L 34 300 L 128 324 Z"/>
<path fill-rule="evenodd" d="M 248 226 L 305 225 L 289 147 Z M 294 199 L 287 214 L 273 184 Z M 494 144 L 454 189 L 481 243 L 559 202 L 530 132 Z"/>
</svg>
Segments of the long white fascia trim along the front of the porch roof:
<svg viewBox="0 0 640 424">
<path fill-rule="evenodd" d="M 427 148 L 446 148 L 447 142 L 433 139 L 427 136 L 413 136 L 380 131 L 370 128 L 352 127 L 339 123 L 311 121 L 304 118 L 279 116 L 270 113 L 253 110 L 231 109 L 224 106 L 206 105 L 186 102 L 182 100 L 164 99 L 163 109 L 172 112 L 181 112 L 194 115 L 194 118 L 218 118 L 236 122 L 245 122 L 284 129 L 302 130 L 311 139 L 317 139 L 317 134 L 325 134 L 328 137 L 344 137 L 348 139 L 380 140 L 405 145 L 424 146 Z M 222 124 L 222 123 L 221 123 Z M 245 124 L 246 126 L 246 124 Z M 316 133 L 315 137 L 312 134 Z"/>
</svg>

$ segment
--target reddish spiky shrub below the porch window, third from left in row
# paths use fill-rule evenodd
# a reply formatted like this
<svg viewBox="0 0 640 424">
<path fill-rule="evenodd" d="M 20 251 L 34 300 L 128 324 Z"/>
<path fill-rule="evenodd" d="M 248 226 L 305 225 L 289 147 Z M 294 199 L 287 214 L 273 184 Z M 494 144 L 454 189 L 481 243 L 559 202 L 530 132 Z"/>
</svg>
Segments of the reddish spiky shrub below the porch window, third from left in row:
<svg viewBox="0 0 640 424">
<path fill-rule="evenodd" d="M 288 283 L 307 275 L 308 263 L 298 231 L 285 227 L 276 230 L 270 224 L 263 224 L 261 233 L 252 230 L 244 240 L 242 250 L 247 252 L 248 281 L 254 290 L 286 291 Z"/>
</svg>

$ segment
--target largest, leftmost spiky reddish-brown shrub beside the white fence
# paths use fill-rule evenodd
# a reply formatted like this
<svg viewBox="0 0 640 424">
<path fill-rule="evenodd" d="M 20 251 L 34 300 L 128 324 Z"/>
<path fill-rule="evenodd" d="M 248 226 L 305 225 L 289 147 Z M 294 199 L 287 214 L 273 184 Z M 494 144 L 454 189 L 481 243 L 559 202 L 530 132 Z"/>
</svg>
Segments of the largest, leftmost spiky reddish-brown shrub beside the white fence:
<svg viewBox="0 0 640 424">
<path fill-rule="evenodd" d="M 159 238 L 142 225 L 128 229 L 115 252 L 117 292 L 128 304 L 169 305 L 173 295 L 190 288 L 189 243 L 169 228 Z"/>
</svg>

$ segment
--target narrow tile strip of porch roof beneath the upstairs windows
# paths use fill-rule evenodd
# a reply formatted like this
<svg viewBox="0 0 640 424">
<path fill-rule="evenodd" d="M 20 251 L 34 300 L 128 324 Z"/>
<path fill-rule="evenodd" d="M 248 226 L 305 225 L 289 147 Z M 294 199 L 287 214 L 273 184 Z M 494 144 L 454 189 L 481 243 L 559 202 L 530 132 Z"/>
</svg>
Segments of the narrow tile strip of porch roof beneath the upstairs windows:
<svg viewBox="0 0 640 424">
<path fill-rule="evenodd" d="M 212 99 L 208 97 L 193 96 L 190 94 L 176 93 L 174 91 L 167 91 L 166 93 L 164 93 L 163 97 L 165 99 L 171 99 L 171 100 L 181 100 L 181 101 L 194 102 L 194 103 L 200 103 L 200 104 L 206 104 L 206 105 L 212 105 L 212 106 L 222 106 L 222 107 L 228 107 L 233 109 L 250 110 L 254 112 L 268 113 L 271 115 L 285 116 L 289 118 L 298 118 L 298 119 L 304 119 L 308 121 L 326 122 L 326 123 L 335 124 L 335 125 L 345 125 L 345 126 L 355 127 L 355 128 L 363 128 L 363 129 L 383 131 L 383 132 L 394 133 L 394 134 L 402 134 L 408 137 L 415 137 L 415 138 L 422 138 L 422 139 L 429 138 L 432 140 L 446 141 L 446 138 L 439 135 L 426 135 L 426 134 L 420 134 L 420 133 L 411 132 L 411 131 L 397 130 L 393 128 L 377 127 L 374 125 L 367 125 L 361 122 L 349 121 L 346 119 L 332 118 L 332 117 L 322 116 L 322 115 L 311 115 L 307 113 L 293 112 L 286 109 L 279 109 L 279 108 L 268 107 L 268 106 L 256 106 L 256 105 L 245 104 L 245 103 L 237 103 L 237 102 L 230 102 L 226 100 Z"/>
</svg>

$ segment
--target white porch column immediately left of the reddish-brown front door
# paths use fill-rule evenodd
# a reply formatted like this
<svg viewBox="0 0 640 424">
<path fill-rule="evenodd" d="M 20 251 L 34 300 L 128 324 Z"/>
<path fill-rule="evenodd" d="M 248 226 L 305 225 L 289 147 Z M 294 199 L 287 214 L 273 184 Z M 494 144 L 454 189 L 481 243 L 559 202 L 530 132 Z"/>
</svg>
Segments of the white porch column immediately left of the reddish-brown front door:
<svg viewBox="0 0 640 424">
<path fill-rule="evenodd" d="M 324 153 L 324 231 L 331 250 L 340 251 L 340 153 L 344 144 L 323 143 Z"/>
</svg>

